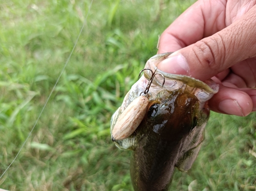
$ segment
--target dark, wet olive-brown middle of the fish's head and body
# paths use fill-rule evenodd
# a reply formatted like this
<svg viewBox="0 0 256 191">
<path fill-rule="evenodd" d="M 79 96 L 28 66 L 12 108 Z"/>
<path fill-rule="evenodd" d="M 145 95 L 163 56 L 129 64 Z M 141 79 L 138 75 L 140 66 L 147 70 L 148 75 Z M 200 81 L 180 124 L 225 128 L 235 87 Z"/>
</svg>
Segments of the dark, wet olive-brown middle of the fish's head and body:
<svg viewBox="0 0 256 191">
<path fill-rule="evenodd" d="M 169 96 L 164 100 L 161 94 Z M 199 122 L 198 116 L 204 114 L 198 113 L 199 107 L 193 88 L 189 86 L 174 91 L 163 90 L 152 101 L 135 132 L 140 137 L 130 168 L 135 190 L 168 188 L 176 164 L 191 149 L 188 141 L 191 138 L 196 141 L 196 137 L 189 135 L 192 131 L 197 131 L 195 128 Z M 188 146 L 183 147 L 184 145 Z"/>
</svg>

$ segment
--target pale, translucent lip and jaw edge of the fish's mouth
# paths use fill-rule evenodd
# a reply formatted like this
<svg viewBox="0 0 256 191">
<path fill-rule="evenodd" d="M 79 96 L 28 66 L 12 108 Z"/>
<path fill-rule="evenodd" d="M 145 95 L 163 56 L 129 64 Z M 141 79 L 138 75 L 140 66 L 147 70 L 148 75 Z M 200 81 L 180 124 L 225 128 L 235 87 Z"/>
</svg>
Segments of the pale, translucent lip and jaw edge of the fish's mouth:
<svg viewBox="0 0 256 191">
<path fill-rule="evenodd" d="M 117 143 L 118 147 L 120 146 L 119 144 L 120 141 L 117 141 L 116 139 L 120 139 L 120 138 L 119 137 L 116 138 L 115 137 L 116 135 L 113 136 L 112 132 L 113 132 L 114 126 L 116 126 L 119 116 L 125 111 L 125 109 L 129 107 L 130 104 L 133 104 L 136 99 L 141 97 L 141 94 L 145 92 L 144 90 L 148 88 L 147 86 L 150 83 L 150 81 L 152 81 L 152 85 L 150 88 L 148 88 L 149 92 L 147 92 L 145 96 L 148 98 L 148 101 L 150 101 L 151 103 L 154 102 L 154 98 L 163 89 L 166 89 L 168 91 L 175 91 L 177 89 L 186 88 L 188 86 L 190 87 L 191 91 L 194 92 L 197 99 L 202 103 L 201 108 L 203 108 L 204 103 L 207 100 L 209 100 L 216 92 L 218 92 L 219 86 L 212 80 L 207 80 L 205 82 L 202 82 L 192 77 L 188 77 L 184 75 L 168 74 L 162 70 L 159 70 L 157 68 L 158 64 L 171 54 L 172 53 L 158 54 L 153 56 L 146 62 L 145 67 L 142 70 L 143 76 L 132 86 L 131 90 L 126 94 L 120 108 L 118 108 L 118 110 L 113 114 L 112 120 L 111 120 L 111 135 L 112 135 L 112 140 Z M 154 74 L 160 74 L 160 75 L 155 75 L 153 77 Z M 163 78 L 164 78 L 164 83 L 163 83 Z M 129 115 L 129 113 L 127 114 Z M 131 112 L 131 115 L 132 115 L 132 112 Z M 129 118 L 129 116 L 126 116 L 126 118 Z M 142 117 L 140 118 L 142 119 Z M 127 127 L 132 127 L 132 125 L 130 126 L 128 125 Z M 122 136 L 123 137 L 122 139 L 127 138 L 131 134 L 132 133 L 130 132 L 127 134 L 127 136 Z M 134 141 L 134 140 L 131 139 L 129 141 Z M 129 144 L 128 145 L 125 144 L 125 145 L 126 146 L 123 145 L 123 146 L 120 146 L 119 148 L 131 149 L 131 145 Z"/>
</svg>

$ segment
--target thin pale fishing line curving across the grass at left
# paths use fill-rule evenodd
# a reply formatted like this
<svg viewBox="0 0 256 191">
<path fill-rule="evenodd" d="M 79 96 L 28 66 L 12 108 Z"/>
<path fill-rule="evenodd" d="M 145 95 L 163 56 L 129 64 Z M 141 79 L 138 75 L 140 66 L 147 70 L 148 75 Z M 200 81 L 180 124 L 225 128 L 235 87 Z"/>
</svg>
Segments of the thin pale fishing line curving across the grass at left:
<svg viewBox="0 0 256 191">
<path fill-rule="evenodd" d="M 7 169 L 5 170 L 5 172 L 0 176 L 0 179 L 1 179 L 1 178 L 4 176 L 4 174 L 8 171 L 8 169 L 10 168 L 10 166 L 12 165 L 12 163 L 13 163 L 13 162 L 16 160 L 16 158 L 18 157 L 20 151 L 22 151 L 22 149 L 24 148 L 24 146 L 25 146 L 27 140 L 29 139 L 30 135 L 32 134 L 32 132 L 33 132 L 33 130 L 34 130 L 34 128 L 35 128 L 35 126 L 36 126 L 36 124 L 37 124 L 37 122 L 38 122 L 38 120 L 39 120 L 41 114 L 42 114 L 42 112 L 45 110 L 46 105 L 47 105 L 48 101 L 50 100 L 50 98 L 51 98 L 51 96 L 52 96 L 52 93 L 53 93 L 53 91 L 54 91 L 56 85 L 58 84 L 61 75 L 63 74 L 63 72 L 64 72 L 66 66 L 67 66 L 68 63 L 69 63 L 70 57 L 71 57 L 71 55 L 73 54 L 73 52 L 74 52 L 74 50 L 75 50 L 76 44 L 77 44 L 77 42 L 78 42 L 78 39 L 79 39 L 79 37 L 81 36 L 81 33 L 82 33 L 82 30 L 83 30 L 84 26 L 86 25 L 87 17 L 88 17 L 88 15 L 89 15 L 90 10 L 91 10 L 92 4 L 93 4 L 93 0 L 91 1 L 91 4 L 90 4 L 90 6 L 89 6 L 89 9 L 88 9 L 88 12 L 87 12 L 87 15 L 86 15 L 86 18 L 85 18 L 84 21 L 83 21 L 82 28 L 81 28 L 81 30 L 80 30 L 80 32 L 79 32 L 79 34 L 78 34 L 78 37 L 77 37 L 77 39 L 76 39 L 76 41 L 75 41 L 75 44 L 74 44 L 74 46 L 73 46 L 73 49 L 72 49 L 72 51 L 71 51 L 71 53 L 70 53 L 70 55 L 69 55 L 69 57 L 68 57 L 68 59 L 67 59 L 65 65 L 63 66 L 63 68 L 62 68 L 62 70 L 61 70 L 61 73 L 60 73 L 60 75 L 59 75 L 59 77 L 58 77 L 56 83 L 54 84 L 54 86 L 53 86 L 53 88 L 52 88 L 52 91 L 50 92 L 50 94 L 49 94 L 49 96 L 48 96 L 48 98 L 47 98 L 47 100 L 46 100 L 46 103 L 45 103 L 44 107 L 42 107 L 42 110 L 41 110 L 40 114 L 38 115 L 38 117 L 37 117 L 37 119 L 36 119 L 36 121 L 35 121 L 35 124 L 34 124 L 33 128 L 32 128 L 31 131 L 29 132 L 29 134 L 28 134 L 26 140 L 24 141 L 22 147 L 19 149 L 19 151 L 18 151 L 18 153 L 16 154 L 15 158 L 12 160 L 12 162 L 11 162 L 10 165 L 7 167 Z"/>
</svg>

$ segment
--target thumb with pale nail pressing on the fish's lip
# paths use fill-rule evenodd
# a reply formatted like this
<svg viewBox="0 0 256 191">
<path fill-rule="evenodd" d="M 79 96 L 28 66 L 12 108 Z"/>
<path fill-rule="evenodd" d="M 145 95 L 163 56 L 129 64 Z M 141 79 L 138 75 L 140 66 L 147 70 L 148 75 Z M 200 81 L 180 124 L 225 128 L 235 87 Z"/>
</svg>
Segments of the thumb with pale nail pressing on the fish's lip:
<svg viewBox="0 0 256 191">
<path fill-rule="evenodd" d="M 256 56 L 256 6 L 230 26 L 173 53 L 158 69 L 207 80 Z"/>
</svg>

